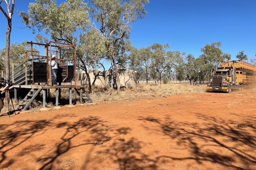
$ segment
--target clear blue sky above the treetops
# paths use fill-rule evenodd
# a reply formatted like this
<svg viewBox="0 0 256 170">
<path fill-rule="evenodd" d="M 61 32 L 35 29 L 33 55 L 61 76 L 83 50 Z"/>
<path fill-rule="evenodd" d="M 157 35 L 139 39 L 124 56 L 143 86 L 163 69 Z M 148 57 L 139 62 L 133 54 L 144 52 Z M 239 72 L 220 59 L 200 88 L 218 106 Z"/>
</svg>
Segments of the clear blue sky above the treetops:
<svg viewBox="0 0 256 170">
<path fill-rule="evenodd" d="M 25 25 L 17 13 L 27 11 L 30 2 L 35 1 L 15 1 L 11 43 L 34 41 L 32 31 L 22 29 Z M 239 51 L 249 60 L 256 58 L 255 0 L 151 0 L 145 8 L 147 18 L 132 24 L 130 40 L 137 48 L 168 43 L 170 51 L 198 57 L 206 44 L 220 41 L 221 50 L 231 54 L 231 59 L 237 59 Z M 7 19 L 2 12 L 0 21 L 0 48 L 4 48 Z"/>
</svg>

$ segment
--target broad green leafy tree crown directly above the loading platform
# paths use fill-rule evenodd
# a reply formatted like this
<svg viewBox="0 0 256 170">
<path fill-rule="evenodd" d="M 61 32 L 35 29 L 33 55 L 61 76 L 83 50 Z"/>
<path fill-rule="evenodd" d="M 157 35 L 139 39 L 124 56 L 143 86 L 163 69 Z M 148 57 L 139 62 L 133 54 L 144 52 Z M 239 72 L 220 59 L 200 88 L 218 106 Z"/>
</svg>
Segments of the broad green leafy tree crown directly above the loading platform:
<svg viewBox="0 0 256 170">
<path fill-rule="evenodd" d="M 28 12 L 19 12 L 33 33 L 42 30 L 57 42 L 75 44 L 80 32 L 90 25 L 87 4 L 82 0 L 67 0 L 58 7 L 54 0 L 36 0 L 29 4 Z M 39 36 L 39 40 L 44 40 Z"/>
</svg>

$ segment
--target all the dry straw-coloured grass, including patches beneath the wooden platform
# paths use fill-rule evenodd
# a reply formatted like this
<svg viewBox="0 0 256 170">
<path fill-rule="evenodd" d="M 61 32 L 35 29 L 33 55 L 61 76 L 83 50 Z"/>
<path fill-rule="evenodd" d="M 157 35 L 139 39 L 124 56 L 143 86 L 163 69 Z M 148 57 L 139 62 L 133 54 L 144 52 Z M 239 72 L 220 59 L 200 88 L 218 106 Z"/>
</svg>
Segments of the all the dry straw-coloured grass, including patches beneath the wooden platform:
<svg viewBox="0 0 256 170">
<path fill-rule="evenodd" d="M 85 87 L 86 91 L 88 87 Z M 116 90 L 112 88 L 104 88 L 99 86 L 92 86 L 93 92 L 89 94 L 93 103 L 84 103 L 84 106 L 89 104 L 98 104 L 101 102 L 115 102 L 115 101 L 123 101 L 123 100 L 140 100 L 141 98 L 161 98 L 167 96 L 174 96 L 174 95 L 189 95 L 193 93 L 204 93 L 206 92 L 206 85 L 188 85 L 188 84 L 176 84 L 176 83 L 168 83 L 168 84 L 142 84 L 138 85 L 136 88 L 133 89 L 121 89 L 120 93 L 118 94 Z M 256 92 L 256 88 L 254 88 L 253 93 Z M 240 94 L 241 95 L 241 94 Z M 55 106 L 55 90 L 50 90 L 50 102 L 47 104 L 47 108 L 53 109 Z M 42 99 L 42 94 L 40 94 Z M 40 98 L 36 101 L 32 102 L 29 106 L 29 111 L 36 112 L 42 108 L 42 100 Z M 17 106 L 22 101 L 21 99 L 16 101 L 12 99 L 14 108 L 16 109 Z M 69 89 L 61 89 L 61 99 L 64 103 L 69 103 Z M 5 105 L 1 111 L 1 114 L 8 114 L 8 104 L 7 101 L 4 101 Z M 80 103 L 79 95 L 72 90 L 72 103 L 78 104 Z M 235 103 L 233 103 L 235 104 Z M 10 111 L 13 110 L 12 103 L 9 104 Z"/>
</svg>

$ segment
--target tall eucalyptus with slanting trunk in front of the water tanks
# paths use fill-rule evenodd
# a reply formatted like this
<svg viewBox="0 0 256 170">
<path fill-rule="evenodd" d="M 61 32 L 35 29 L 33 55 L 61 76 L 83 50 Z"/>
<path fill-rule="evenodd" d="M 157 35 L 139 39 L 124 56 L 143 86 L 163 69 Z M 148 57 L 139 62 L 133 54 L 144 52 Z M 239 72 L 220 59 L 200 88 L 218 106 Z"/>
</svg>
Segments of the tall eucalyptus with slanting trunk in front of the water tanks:
<svg viewBox="0 0 256 170">
<path fill-rule="evenodd" d="M 144 9 L 148 0 L 89 0 L 94 27 L 102 33 L 106 42 L 107 57 L 112 60 L 117 80 L 117 92 L 120 92 L 120 80 L 116 56 L 123 41 L 129 39 L 131 23 L 146 17 Z"/>
</svg>

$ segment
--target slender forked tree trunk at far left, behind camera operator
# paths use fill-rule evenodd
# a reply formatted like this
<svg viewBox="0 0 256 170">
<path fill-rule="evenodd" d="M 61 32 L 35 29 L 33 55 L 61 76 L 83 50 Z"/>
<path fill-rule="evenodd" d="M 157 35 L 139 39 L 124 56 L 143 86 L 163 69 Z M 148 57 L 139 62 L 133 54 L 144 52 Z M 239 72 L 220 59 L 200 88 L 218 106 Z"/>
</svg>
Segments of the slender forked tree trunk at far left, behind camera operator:
<svg viewBox="0 0 256 170">
<path fill-rule="evenodd" d="M 6 10 L 2 7 L 2 2 L 6 3 Z M 11 8 L 10 8 L 11 6 Z M 7 19 L 7 31 L 6 31 L 6 44 L 5 44 L 5 79 L 9 80 L 10 79 L 10 55 L 9 55 L 9 50 L 10 50 L 10 36 L 11 36 L 11 31 L 12 31 L 12 14 L 14 11 L 14 6 L 15 6 L 15 0 L 10 0 L 9 3 L 7 0 L 1 0 L 0 1 L 0 10 L 3 12 L 4 16 Z"/>
</svg>

